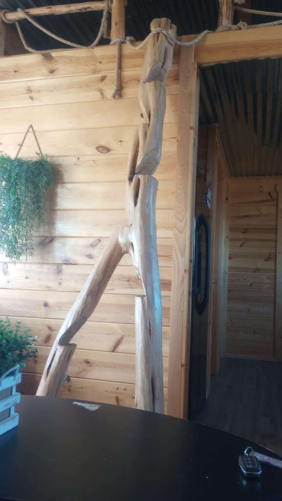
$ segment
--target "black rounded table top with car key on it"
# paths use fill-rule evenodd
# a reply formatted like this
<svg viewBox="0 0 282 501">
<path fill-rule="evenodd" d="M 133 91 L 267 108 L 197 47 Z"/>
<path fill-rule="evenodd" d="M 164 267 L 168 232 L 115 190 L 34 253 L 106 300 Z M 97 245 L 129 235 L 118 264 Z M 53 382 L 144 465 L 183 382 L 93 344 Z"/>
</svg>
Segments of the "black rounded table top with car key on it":
<svg viewBox="0 0 282 501">
<path fill-rule="evenodd" d="M 252 442 L 183 419 L 100 405 L 93 411 L 73 400 L 23 396 L 19 426 L 0 437 L 0 499 L 282 500 L 280 469 L 262 465 L 260 479 L 241 475 L 238 455 Z"/>
</svg>

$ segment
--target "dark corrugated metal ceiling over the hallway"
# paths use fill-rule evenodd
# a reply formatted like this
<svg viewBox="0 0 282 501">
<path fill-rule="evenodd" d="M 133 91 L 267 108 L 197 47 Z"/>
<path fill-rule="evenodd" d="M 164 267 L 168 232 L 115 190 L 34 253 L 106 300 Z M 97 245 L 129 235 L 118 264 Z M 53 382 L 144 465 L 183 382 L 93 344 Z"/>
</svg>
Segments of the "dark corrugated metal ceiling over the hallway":
<svg viewBox="0 0 282 501">
<path fill-rule="evenodd" d="M 218 123 L 231 176 L 282 175 L 282 60 L 201 70 L 200 123 Z"/>
</svg>

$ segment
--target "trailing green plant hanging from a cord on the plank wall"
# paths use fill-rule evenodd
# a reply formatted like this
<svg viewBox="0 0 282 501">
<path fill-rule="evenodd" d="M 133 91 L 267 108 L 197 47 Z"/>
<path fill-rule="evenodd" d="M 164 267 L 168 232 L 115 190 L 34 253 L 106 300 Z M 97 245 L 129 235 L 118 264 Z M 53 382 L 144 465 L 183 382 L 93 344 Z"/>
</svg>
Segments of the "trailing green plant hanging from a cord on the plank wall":
<svg viewBox="0 0 282 501">
<path fill-rule="evenodd" d="M 52 166 L 42 153 L 37 160 L 0 155 L 0 253 L 11 261 L 34 252 L 34 225 L 44 221 L 52 178 Z"/>
</svg>

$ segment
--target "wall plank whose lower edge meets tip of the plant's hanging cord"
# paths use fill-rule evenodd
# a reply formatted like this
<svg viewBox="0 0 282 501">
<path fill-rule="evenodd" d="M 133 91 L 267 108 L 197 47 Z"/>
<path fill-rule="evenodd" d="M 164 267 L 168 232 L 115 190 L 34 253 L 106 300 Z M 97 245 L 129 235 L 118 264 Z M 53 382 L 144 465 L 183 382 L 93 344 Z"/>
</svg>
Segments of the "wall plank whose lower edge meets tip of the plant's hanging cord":
<svg viewBox="0 0 282 501">
<path fill-rule="evenodd" d="M 177 122 L 178 95 L 166 98 L 165 123 Z M 25 133 L 27 123 L 35 130 L 53 131 L 70 129 L 93 129 L 137 125 L 141 108 L 138 98 L 112 99 L 1 110 L 0 134 Z"/>
</svg>

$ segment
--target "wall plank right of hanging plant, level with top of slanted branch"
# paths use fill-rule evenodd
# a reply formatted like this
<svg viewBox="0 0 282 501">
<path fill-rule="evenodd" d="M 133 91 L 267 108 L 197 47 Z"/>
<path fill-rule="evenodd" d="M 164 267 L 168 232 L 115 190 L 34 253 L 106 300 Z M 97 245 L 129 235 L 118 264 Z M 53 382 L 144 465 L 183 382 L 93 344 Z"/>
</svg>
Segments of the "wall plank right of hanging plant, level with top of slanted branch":
<svg viewBox="0 0 282 501">
<path fill-rule="evenodd" d="M 174 210 L 156 210 L 158 238 L 172 238 Z M 35 236 L 109 237 L 127 224 L 125 210 L 48 210 Z"/>
</svg>

